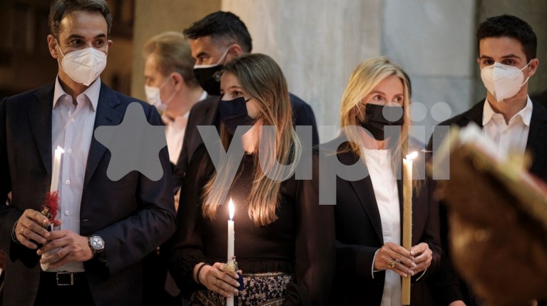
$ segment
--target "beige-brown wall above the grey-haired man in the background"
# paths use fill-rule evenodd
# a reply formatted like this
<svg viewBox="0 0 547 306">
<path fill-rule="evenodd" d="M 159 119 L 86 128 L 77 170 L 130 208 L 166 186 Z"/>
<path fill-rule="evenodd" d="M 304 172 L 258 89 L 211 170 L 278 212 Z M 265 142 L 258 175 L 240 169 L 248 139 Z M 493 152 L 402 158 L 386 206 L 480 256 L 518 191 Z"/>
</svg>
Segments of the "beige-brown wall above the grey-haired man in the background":
<svg viewBox="0 0 547 306">
<path fill-rule="evenodd" d="M 220 0 L 136 0 L 131 96 L 145 100 L 142 47 L 150 37 L 164 31 L 183 31 L 218 10 Z"/>
</svg>

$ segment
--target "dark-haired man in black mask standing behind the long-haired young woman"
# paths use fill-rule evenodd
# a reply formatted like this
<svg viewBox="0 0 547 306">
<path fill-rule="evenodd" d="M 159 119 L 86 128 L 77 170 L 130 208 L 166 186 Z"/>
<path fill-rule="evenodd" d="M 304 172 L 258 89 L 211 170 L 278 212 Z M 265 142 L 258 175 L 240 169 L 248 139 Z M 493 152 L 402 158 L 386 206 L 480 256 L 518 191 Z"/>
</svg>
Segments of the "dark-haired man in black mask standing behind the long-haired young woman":
<svg viewBox="0 0 547 306">
<path fill-rule="evenodd" d="M 252 39 L 245 24 L 227 11 L 217 11 L 196 21 L 183 34 L 190 39 L 190 49 L 195 58 L 195 78 L 210 96 L 220 96 L 220 73 L 223 65 L 236 56 L 250 53 Z M 290 93 L 295 126 L 312 126 L 312 145 L 319 144 L 319 134 L 312 108 L 302 99 Z M 173 173 L 175 188 L 180 186 L 186 166 L 198 146 L 203 143 L 197 126 L 219 124 L 218 101 L 211 98 L 196 104 L 190 111 L 183 151 Z"/>
</svg>

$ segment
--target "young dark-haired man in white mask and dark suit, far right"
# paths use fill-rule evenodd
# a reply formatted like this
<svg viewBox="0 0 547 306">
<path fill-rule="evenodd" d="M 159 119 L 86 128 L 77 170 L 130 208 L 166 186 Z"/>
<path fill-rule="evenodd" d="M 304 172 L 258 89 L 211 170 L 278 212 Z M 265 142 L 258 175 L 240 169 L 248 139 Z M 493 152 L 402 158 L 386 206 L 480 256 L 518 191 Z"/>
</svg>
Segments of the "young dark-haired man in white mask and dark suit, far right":
<svg viewBox="0 0 547 306">
<path fill-rule="evenodd" d="M 477 30 L 479 68 L 486 87 L 486 99 L 469 111 L 439 126 L 467 126 L 476 123 L 503 153 L 524 153 L 533 156 L 530 172 L 547 180 L 547 109 L 528 97 L 528 78 L 536 73 L 537 40 L 531 26 L 515 16 L 503 15 L 486 19 Z M 432 139 L 442 139 L 446 129 L 436 129 Z M 439 143 L 429 143 L 429 148 Z M 442 207 L 444 209 L 444 207 Z M 446 237 L 449 227 L 446 211 L 441 211 L 441 232 L 444 252 L 449 255 Z M 444 257 L 441 270 L 431 282 L 439 286 L 437 305 L 480 305 L 474 293 L 460 284 Z M 464 304 L 465 302 L 465 304 Z"/>
</svg>

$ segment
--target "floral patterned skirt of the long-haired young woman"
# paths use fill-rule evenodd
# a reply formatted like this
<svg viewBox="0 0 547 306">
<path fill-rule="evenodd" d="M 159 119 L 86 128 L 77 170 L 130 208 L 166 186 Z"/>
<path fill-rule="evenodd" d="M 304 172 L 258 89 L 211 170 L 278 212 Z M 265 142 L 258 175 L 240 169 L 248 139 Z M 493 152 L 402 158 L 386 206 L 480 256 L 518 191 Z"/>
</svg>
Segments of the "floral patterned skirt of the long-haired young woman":
<svg viewBox="0 0 547 306">
<path fill-rule="evenodd" d="M 285 301 L 292 276 L 283 272 L 243 274 L 245 290 L 234 296 L 234 306 L 279 306 Z M 224 306 L 226 298 L 217 292 L 199 290 L 190 297 L 190 306 Z"/>
</svg>

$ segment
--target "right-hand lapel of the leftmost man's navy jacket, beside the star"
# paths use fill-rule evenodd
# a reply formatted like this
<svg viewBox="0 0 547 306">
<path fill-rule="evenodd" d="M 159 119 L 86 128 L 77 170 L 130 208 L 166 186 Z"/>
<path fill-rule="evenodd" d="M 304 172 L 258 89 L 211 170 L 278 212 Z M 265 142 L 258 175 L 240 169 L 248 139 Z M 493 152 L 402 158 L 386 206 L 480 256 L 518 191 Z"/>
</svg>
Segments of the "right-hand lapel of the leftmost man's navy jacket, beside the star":
<svg viewBox="0 0 547 306">
<path fill-rule="evenodd" d="M 121 107 L 121 101 L 114 91 L 101 83 L 101 92 L 99 93 L 97 103 L 97 113 L 95 116 L 95 125 L 93 126 L 93 137 L 89 147 L 88 160 L 86 165 L 86 178 L 83 185 L 86 186 L 97 168 L 98 163 L 103 158 L 106 147 L 95 139 L 95 130 L 99 126 L 117 126 L 121 123 L 125 109 Z"/>
</svg>

